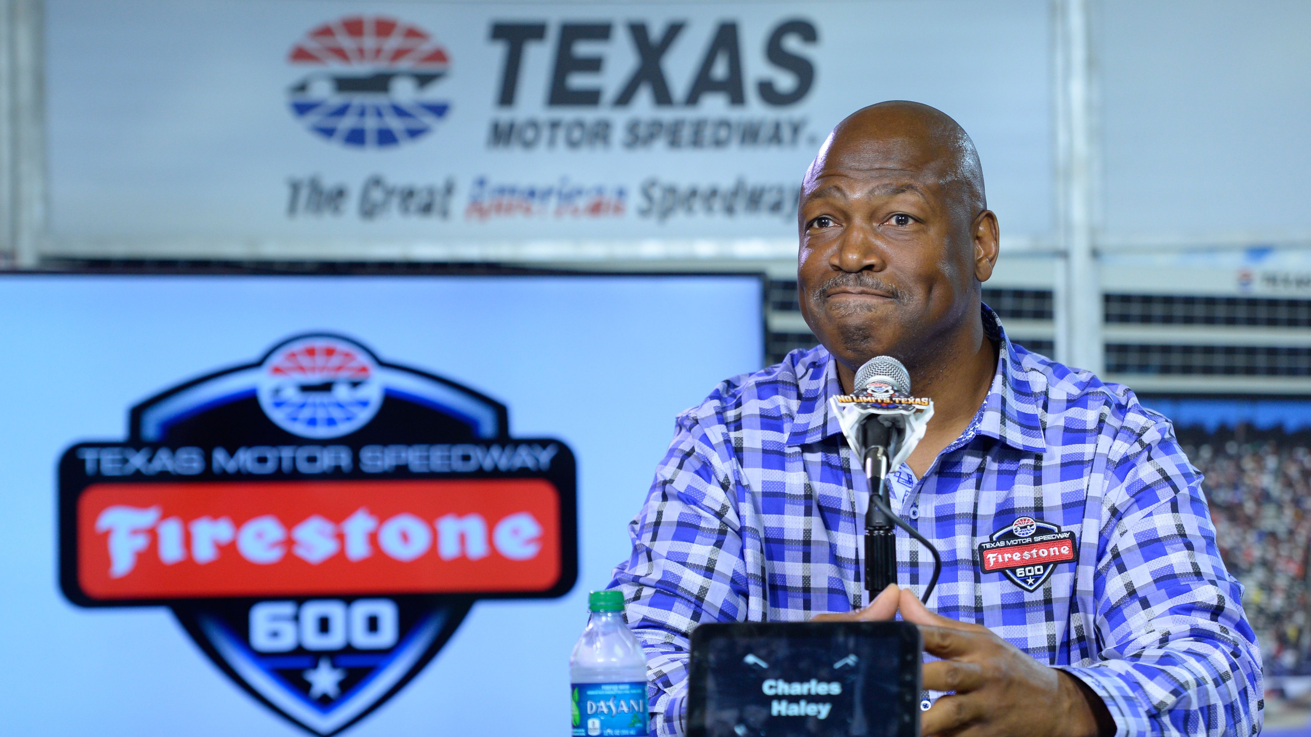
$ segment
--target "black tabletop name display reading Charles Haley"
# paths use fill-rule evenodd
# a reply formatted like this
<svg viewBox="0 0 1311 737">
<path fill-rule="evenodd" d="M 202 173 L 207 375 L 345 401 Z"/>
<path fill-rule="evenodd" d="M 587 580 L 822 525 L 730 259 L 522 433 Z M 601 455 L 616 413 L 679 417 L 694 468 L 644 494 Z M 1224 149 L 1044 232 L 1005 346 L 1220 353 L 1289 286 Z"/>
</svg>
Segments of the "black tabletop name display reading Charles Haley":
<svg viewBox="0 0 1311 737">
<path fill-rule="evenodd" d="M 918 736 L 922 651 L 905 622 L 703 624 L 688 734 Z"/>
</svg>

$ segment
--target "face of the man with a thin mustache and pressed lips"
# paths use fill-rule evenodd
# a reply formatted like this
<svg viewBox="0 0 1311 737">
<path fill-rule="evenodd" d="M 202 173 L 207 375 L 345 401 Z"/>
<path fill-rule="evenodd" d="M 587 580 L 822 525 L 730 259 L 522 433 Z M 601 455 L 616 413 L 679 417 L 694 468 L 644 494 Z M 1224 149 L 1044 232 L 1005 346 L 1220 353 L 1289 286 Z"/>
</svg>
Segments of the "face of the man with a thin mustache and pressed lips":
<svg viewBox="0 0 1311 737">
<path fill-rule="evenodd" d="M 801 313 L 839 361 L 891 355 L 907 365 L 958 326 L 974 258 L 962 200 L 933 147 L 836 135 L 801 191 Z"/>
</svg>

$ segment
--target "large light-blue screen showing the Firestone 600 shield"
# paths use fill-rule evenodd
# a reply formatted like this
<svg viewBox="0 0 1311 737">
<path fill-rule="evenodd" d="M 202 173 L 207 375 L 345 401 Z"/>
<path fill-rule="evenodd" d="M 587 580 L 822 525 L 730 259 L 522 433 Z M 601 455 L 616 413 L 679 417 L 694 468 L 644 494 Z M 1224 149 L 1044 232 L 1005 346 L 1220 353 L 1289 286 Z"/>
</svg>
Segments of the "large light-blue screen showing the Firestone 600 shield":
<svg viewBox="0 0 1311 737">
<path fill-rule="evenodd" d="M 560 734 L 747 276 L 4 276 L 0 732 Z M 713 326 L 713 327 L 709 327 Z"/>
</svg>

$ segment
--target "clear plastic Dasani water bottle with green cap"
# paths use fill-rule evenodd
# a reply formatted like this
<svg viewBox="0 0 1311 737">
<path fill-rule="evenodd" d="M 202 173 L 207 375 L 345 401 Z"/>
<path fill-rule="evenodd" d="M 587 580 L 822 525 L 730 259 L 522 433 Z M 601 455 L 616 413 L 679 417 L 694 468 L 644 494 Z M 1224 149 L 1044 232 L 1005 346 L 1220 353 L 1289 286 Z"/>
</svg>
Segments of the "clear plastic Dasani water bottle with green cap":
<svg viewBox="0 0 1311 737">
<path fill-rule="evenodd" d="M 646 655 L 624 623 L 624 593 L 591 592 L 569 658 L 574 737 L 646 734 Z"/>
</svg>

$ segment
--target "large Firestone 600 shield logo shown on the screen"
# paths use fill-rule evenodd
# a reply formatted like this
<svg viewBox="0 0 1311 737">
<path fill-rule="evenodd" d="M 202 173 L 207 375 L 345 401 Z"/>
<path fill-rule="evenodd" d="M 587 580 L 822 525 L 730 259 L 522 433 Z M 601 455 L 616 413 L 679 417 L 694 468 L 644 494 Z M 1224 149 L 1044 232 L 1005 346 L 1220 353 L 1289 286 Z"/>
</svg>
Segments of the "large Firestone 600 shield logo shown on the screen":
<svg viewBox="0 0 1311 737">
<path fill-rule="evenodd" d="M 577 576 L 573 453 L 505 406 L 294 336 L 131 410 L 59 463 L 60 585 L 169 606 L 250 695 L 316 734 L 413 678 L 477 598 Z"/>
</svg>

